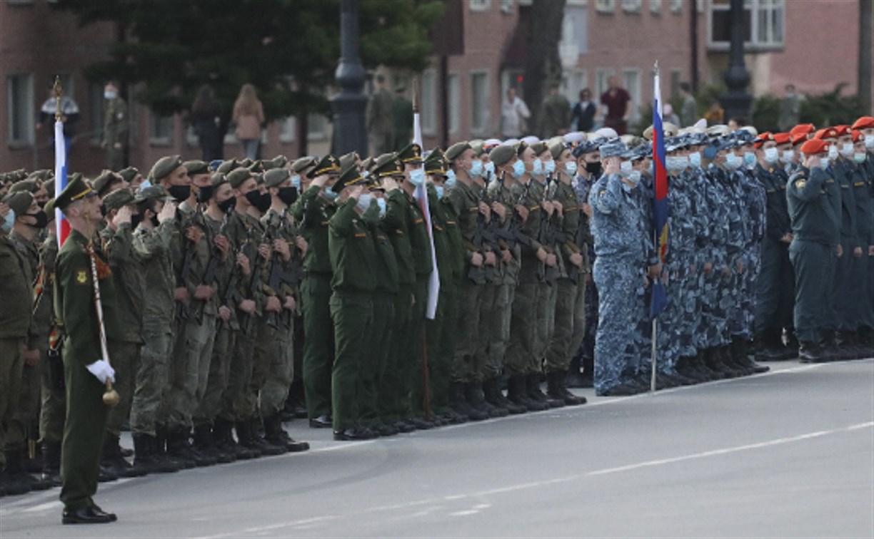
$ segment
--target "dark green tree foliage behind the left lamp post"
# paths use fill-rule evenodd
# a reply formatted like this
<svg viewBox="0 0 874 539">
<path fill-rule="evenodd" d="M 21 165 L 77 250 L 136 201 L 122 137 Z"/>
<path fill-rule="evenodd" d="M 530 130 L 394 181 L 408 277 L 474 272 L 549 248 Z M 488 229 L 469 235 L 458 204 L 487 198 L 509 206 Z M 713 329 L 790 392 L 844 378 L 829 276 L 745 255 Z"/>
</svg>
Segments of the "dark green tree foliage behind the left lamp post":
<svg viewBox="0 0 874 539">
<path fill-rule="evenodd" d="M 252 83 L 267 119 L 329 114 L 326 90 L 340 51 L 338 0 L 59 0 L 80 25 L 116 24 L 110 59 L 89 65 L 87 78 L 136 85 L 135 97 L 156 113 L 184 113 L 200 85 L 211 84 L 227 128 L 239 88 Z M 365 68 L 421 71 L 428 30 L 440 0 L 361 3 Z"/>
</svg>

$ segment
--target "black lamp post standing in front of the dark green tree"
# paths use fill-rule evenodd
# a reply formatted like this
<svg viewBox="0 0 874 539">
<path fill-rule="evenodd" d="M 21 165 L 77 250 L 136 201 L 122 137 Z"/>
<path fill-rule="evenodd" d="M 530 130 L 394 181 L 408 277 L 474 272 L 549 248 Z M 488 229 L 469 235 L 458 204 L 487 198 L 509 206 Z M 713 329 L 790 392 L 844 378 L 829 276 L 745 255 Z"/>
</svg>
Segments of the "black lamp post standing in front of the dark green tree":
<svg viewBox="0 0 874 539">
<path fill-rule="evenodd" d="M 356 151 L 367 154 L 367 126 L 364 111 L 367 96 L 364 66 L 358 57 L 358 0 L 340 0 L 340 65 L 336 83 L 340 93 L 331 99 L 334 110 L 334 152 L 337 155 Z"/>
</svg>

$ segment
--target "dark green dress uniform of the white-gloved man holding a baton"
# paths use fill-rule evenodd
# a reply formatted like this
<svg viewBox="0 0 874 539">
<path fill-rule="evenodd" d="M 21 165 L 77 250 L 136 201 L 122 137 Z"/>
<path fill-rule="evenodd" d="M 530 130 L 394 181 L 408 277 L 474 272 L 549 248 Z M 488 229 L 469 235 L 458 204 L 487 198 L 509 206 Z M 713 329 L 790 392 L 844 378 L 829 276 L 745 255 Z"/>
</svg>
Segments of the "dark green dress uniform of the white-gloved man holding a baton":
<svg viewBox="0 0 874 539">
<path fill-rule="evenodd" d="M 60 500 L 67 511 L 94 505 L 100 475 L 101 447 L 109 408 L 103 403 L 106 386 L 88 372 L 103 358 L 94 281 L 87 254 L 90 238 L 72 230 L 58 251 L 55 281 L 55 316 L 64 328 L 64 370 L 66 378 L 66 424 L 61 447 L 60 474 L 64 481 Z M 103 322 L 107 338 L 119 335 L 115 287 L 109 266 L 98 258 Z M 102 273 L 102 275 L 101 275 Z"/>
</svg>

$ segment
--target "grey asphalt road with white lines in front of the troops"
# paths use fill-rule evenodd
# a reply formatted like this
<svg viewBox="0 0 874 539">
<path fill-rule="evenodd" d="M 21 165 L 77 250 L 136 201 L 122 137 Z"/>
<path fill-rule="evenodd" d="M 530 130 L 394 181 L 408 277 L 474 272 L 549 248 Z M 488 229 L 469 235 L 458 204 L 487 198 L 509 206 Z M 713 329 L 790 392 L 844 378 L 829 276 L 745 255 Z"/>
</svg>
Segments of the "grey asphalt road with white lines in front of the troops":
<svg viewBox="0 0 874 539">
<path fill-rule="evenodd" d="M 872 537 L 874 360 L 0 500 L 0 537 Z M 129 443 L 129 441 L 128 441 Z"/>
</svg>

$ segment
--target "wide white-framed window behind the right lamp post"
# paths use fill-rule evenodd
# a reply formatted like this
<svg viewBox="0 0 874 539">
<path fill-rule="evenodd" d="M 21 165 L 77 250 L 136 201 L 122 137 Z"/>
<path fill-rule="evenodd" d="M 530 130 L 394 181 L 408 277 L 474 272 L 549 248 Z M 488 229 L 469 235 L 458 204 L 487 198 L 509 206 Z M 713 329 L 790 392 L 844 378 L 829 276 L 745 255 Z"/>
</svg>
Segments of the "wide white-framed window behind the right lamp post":
<svg viewBox="0 0 874 539">
<path fill-rule="evenodd" d="M 744 44 L 747 52 L 783 48 L 785 0 L 744 2 Z M 712 0 L 708 26 L 712 51 L 728 51 L 731 40 L 729 0 Z"/>
</svg>

